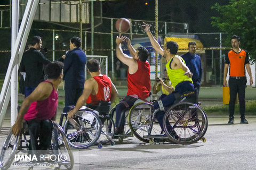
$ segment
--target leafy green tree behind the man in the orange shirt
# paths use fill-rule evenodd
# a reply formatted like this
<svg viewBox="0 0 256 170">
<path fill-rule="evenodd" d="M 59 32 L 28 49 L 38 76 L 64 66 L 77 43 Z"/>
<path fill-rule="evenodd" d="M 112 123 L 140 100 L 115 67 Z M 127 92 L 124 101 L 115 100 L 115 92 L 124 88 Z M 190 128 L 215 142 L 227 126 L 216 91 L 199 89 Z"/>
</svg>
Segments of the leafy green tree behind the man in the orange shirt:
<svg viewBox="0 0 256 170">
<path fill-rule="evenodd" d="M 221 31 L 228 33 L 228 39 L 225 40 L 227 46 L 230 46 L 230 38 L 237 35 L 241 38 L 241 48 L 249 52 L 251 61 L 256 60 L 256 1 L 255 0 L 231 0 L 228 5 L 212 6 L 220 17 L 212 17 L 212 25 L 218 27 Z"/>
</svg>

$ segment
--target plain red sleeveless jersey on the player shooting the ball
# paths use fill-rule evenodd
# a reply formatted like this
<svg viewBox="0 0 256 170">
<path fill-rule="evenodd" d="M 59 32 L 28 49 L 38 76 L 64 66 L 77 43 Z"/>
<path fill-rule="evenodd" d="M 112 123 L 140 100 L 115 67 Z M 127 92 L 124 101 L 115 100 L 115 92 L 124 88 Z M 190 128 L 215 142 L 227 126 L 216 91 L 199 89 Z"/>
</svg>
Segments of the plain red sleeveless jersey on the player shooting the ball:
<svg viewBox="0 0 256 170">
<path fill-rule="evenodd" d="M 127 71 L 127 96 L 138 95 L 140 99 L 146 99 L 151 89 L 149 63 L 137 60 L 138 70 L 134 74 Z"/>
</svg>

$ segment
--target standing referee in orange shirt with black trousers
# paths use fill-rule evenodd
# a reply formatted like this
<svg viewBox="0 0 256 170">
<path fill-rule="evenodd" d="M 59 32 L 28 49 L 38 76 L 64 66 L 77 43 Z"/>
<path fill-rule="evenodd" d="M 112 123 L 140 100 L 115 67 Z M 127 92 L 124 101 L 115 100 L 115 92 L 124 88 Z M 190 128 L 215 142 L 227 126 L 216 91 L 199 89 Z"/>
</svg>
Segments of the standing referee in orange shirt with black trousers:
<svg viewBox="0 0 256 170">
<path fill-rule="evenodd" d="M 229 121 L 228 124 L 234 124 L 234 111 L 235 111 L 235 100 L 236 94 L 238 93 L 239 99 L 239 108 L 241 115 L 241 122 L 248 124 L 245 119 L 245 86 L 246 86 L 246 77 L 245 77 L 245 67 L 250 76 L 250 85 L 253 83 L 252 72 L 249 63 L 248 52 L 244 49 L 239 48 L 240 38 L 238 36 L 231 37 L 232 49 L 226 54 L 225 57 L 225 66 L 223 74 L 223 86 L 229 85 Z M 227 73 L 229 67 L 229 80 L 227 84 Z"/>
</svg>

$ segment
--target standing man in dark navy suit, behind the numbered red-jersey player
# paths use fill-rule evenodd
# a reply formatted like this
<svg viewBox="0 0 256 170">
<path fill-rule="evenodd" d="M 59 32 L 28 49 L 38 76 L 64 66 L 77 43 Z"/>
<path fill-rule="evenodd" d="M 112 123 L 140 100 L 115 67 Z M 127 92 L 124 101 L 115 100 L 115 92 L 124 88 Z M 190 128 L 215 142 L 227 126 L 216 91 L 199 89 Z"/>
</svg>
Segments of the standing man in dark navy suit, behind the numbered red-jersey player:
<svg viewBox="0 0 256 170">
<path fill-rule="evenodd" d="M 65 80 L 65 107 L 76 105 L 84 89 L 84 69 L 86 56 L 80 48 L 81 39 L 73 37 L 69 42 L 69 52 L 64 60 L 63 73 Z"/>
</svg>

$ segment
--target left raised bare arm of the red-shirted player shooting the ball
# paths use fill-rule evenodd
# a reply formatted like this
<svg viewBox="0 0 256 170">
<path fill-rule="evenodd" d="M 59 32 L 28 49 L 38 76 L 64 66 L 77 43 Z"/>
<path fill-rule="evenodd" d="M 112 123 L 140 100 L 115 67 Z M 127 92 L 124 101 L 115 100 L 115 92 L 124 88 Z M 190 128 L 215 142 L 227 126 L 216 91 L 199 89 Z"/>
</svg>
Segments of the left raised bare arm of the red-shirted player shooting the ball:
<svg viewBox="0 0 256 170">
<path fill-rule="evenodd" d="M 123 41 L 123 36 L 121 37 L 121 33 L 119 36 L 116 37 L 116 56 L 117 58 L 124 64 L 126 64 L 129 67 L 133 67 L 135 63 L 134 58 L 127 56 L 123 53 L 123 50 L 121 48 L 121 43 Z"/>
</svg>

